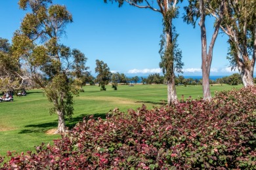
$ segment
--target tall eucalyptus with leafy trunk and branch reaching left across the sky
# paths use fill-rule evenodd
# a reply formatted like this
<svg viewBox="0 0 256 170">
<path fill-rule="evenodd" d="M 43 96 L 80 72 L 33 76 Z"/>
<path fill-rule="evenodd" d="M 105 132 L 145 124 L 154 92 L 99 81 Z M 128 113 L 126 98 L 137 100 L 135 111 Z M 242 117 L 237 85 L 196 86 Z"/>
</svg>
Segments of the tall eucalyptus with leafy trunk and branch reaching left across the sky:
<svg viewBox="0 0 256 170">
<path fill-rule="evenodd" d="M 119 7 L 121 7 L 123 3 L 128 3 L 133 7 L 150 9 L 162 15 L 163 35 L 161 35 L 160 41 L 160 67 L 163 69 L 167 82 L 167 103 L 170 105 L 177 101 L 175 71 L 181 73 L 184 63 L 181 61 L 181 50 L 179 50 L 177 45 L 178 35 L 175 33 L 173 19 L 177 18 L 179 14 L 177 3 L 182 2 L 182 0 L 104 0 L 105 3 L 107 3 L 107 1 L 118 2 Z M 155 6 L 157 6 L 157 8 L 155 8 Z"/>
</svg>

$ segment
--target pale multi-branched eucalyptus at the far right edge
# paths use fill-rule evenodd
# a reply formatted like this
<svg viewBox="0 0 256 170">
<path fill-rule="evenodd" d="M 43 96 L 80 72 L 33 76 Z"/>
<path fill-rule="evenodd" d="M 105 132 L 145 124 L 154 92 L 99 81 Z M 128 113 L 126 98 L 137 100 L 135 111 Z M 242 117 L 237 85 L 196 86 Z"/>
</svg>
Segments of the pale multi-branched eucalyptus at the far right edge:
<svg viewBox="0 0 256 170">
<path fill-rule="evenodd" d="M 256 1 L 224 0 L 221 29 L 228 35 L 228 59 L 232 69 L 238 68 L 244 86 L 254 86 L 256 60 Z"/>
</svg>

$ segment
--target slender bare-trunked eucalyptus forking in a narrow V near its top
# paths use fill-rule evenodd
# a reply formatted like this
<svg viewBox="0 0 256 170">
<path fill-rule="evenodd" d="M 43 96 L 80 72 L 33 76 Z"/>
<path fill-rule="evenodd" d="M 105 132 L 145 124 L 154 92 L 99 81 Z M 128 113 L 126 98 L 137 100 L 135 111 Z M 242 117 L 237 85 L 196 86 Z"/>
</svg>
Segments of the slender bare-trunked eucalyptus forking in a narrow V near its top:
<svg viewBox="0 0 256 170">
<path fill-rule="evenodd" d="M 198 23 L 201 29 L 201 43 L 202 43 L 202 77 L 203 77 L 203 99 L 210 100 L 211 92 L 209 88 L 209 75 L 211 71 L 211 61 L 213 59 L 213 46 L 217 39 L 221 22 L 223 20 L 224 2 L 223 0 L 190 0 L 188 6 L 184 7 L 186 15 L 183 16 L 184 21 L 188 24 L 196 26 L 196 21 L 200 18 Z M 214 32 L 211 36 L 211 41 L 207 51 L 207 33 L 205 27 L 206 16 L 215 16 Z"/>
</svg>

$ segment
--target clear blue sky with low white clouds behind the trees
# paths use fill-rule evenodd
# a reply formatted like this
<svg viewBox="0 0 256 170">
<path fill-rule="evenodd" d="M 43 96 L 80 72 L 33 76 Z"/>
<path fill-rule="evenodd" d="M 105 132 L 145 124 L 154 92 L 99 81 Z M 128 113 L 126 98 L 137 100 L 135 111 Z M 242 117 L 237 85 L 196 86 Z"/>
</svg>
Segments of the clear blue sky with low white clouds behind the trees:
<svg viewBox="0 0 256 170">
<path fill-rule="evenodd" d="M 95 60 L 107 63 L 111 71 L 127 76 L 143 76 L 161 73 L 159 67 L 161 14 L 149 9 L 138 9 L 129 5 L 118 8 L 117 3 L 105 4 L 103 0 L 55 0 L 66 5 L 74 22 L 67 25 L 66 36 L 61 42 L 71 48 L 81 50 L 87 56 L 87 66 L 95 74 Z M 183 3 L 184 4 L 184 3 Z M 174 24 L 179 33 L 178 43 L 184 62 L 183 75 L 202 75 L 200 28 L 183 22 L 180 18 Z M 19 28 L 26 11 L 18 8 L 18 0 L 2 0 L 0 6 L 0 37 L 11 41 Z M 213 20 L 207 18 L 207 38 L 213 31 Z M 226 53 L 226 35 L 220 34 L 215 42 L 211 75 L 230 75 Z M 209 46 L 209 44 L 208 44 Z"/>
</svg>

